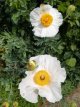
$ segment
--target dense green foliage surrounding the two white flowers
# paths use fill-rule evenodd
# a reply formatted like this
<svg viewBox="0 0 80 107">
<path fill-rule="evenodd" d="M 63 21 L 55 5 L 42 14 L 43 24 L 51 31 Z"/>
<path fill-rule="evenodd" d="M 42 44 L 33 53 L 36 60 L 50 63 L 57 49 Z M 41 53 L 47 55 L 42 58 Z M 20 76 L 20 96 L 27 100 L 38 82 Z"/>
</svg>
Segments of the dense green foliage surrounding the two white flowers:
<svg viewBox="0 0 80 107">
<path fill-rule="evenodd" d="M 80 83 L 80 1 L 44 0 L 62 12 L 64 23 L 55 38 L 38 38 L 32 32 L 29 14 L 36 0 L 0 1 L 0 104 L 19 102 L 19 107 L 38 107 L 20 97 L 18 84 L 25 76 L 31 56 L 51 54 L 67 71 L 62 86 L 64 97 Z M 68 13 L 70 5 L 76 7 Z M 65 106 L 63 106 L 65 107 Z"/>
</svg>

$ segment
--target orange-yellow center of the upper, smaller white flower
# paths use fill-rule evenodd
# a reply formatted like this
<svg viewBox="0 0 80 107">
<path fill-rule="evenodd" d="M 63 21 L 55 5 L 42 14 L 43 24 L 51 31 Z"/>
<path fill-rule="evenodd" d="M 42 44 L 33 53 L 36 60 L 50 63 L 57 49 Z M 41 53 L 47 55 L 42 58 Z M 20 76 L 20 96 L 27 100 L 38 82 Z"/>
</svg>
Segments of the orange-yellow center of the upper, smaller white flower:
<svg viewBox="0 0 80 107">
<path fill-rule="evenodd" d="M 53 17 L 48 13 L 45 13 L 41 16 L 41 24 L 44 27 L 50 26 L 52 24 L 52 21 L 53 21 Z"/>
</svg>

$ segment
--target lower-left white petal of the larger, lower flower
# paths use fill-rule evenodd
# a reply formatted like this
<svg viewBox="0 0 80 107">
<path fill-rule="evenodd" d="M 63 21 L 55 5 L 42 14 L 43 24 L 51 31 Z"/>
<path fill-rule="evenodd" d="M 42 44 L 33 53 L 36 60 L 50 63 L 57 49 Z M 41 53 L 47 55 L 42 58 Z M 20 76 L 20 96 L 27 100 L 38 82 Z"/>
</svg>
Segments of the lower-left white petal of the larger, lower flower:
<svg viewBox="0 0 80 107">
<path fill-rule="evenodd" d="M 37 103 L 38 102 L 38 93 L 36 92 L 35 84 L 32 80 L 32 77 L 24 78 L 20 84 L 20 95 L 29 102 Z"/>
</svg>

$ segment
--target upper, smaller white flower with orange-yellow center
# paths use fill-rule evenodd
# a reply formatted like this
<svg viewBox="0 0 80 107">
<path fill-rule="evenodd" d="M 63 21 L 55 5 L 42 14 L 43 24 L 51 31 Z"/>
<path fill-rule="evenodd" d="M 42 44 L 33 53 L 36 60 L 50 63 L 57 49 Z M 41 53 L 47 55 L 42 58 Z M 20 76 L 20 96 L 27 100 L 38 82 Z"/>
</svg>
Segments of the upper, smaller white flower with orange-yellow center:
<svg viewBox="0 0 80 107">
<path fill-rule="evenodd" d="M 63 22 L 62 14 L 50 5 L 41 5 L 30 13 L 30 21 L 35 36 L 54 37 Z"/>
</svg>

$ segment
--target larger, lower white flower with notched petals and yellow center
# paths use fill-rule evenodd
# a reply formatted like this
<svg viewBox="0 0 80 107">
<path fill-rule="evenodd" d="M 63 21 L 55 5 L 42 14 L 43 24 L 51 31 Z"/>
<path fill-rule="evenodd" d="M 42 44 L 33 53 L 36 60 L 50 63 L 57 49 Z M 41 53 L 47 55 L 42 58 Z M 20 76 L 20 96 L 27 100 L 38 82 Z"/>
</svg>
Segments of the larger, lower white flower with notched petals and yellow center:
<svg viewBox="0 0 80 107">
<path fill-rule="evenodd" d="M 66 71 L 61 68 L 60 61 L 50 55 L 31 57 L 37 67 L 26 71 L 27 77 L 20 84 L 21 96 L 29 102 L 37 103 L 38 95 L 55 103 L 62 99 L 61 82 L 66 79 Z"/>
</svg>

